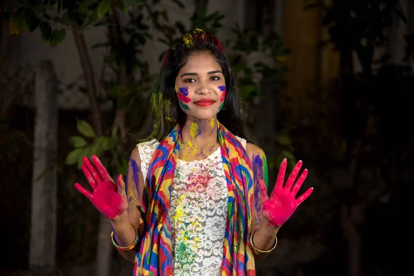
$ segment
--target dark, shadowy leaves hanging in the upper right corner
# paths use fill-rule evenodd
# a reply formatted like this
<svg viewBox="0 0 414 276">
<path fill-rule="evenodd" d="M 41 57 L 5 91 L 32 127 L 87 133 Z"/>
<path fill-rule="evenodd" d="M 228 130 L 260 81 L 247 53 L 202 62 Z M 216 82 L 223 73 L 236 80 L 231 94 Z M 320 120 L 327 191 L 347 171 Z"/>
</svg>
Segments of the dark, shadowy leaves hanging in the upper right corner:
<svg viewBox="0 0 414 276">
<path fill-rule="evenodd" d="M 330 6 L 304 0 L 306 9 L 322 8 L 322 24 L 328 29 L 329 41 L 335 50 L 353 50 L 364 68 L 371 71 L 374 51 L 378 46 L 388 42 L 386 28 L 397 23 L 398 19 L 406 22 L 406 17 L 398 1 L 333 1 Z"/>
</svg>

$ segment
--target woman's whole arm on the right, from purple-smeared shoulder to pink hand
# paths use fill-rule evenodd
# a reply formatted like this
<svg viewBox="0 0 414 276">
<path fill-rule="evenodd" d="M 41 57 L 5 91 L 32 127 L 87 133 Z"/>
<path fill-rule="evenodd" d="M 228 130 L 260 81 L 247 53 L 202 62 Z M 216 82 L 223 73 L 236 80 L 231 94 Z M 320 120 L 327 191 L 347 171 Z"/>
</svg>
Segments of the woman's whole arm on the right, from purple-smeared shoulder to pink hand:
<svg viewBox="0 0 414 276">
<path fill-rule="evenodd" d="M 248 145 L 247 152 L 253 165 L 255 199 L 252 203 L 254 222 L 251 228 L 253 235 L 251 245 L 257 260 L 262 259 L 275 248 L 276 235 L 280 227 L 293 215 L 297 206 L 311 195 L 313 188 L 308 188 L 305 193 L 297 197 L 297 193 L 308 175 L 308 170 L 305 169 L 296 180 L 299 170 L 302 168 L 302 161 L 297 162 L 284 183 L 287 165 L 285 158 L 280 165 L 275 187 L 268 197 L 266 156 L 263 150 L 253 144 Z"/>
</svg>

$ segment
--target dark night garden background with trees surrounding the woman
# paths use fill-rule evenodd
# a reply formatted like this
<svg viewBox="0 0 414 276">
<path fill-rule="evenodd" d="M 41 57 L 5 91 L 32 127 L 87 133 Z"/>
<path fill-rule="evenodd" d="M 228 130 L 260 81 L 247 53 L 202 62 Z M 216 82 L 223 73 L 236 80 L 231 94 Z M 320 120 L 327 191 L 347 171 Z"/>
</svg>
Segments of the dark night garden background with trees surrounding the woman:
<svg viewBox="0 0 414 276">
<path fill-rule="evenodd" d="M 0 1 L 0 275 L 132 275 L 73 186 L 81 157 L 126 174 L 168 46 L 222 41 L 269 192 L 284 157 L 313 195 L 259 276 L 409 273 L 414 1 Z M 411 213 L 411 212 L 410 212 Z"/>
</svg>

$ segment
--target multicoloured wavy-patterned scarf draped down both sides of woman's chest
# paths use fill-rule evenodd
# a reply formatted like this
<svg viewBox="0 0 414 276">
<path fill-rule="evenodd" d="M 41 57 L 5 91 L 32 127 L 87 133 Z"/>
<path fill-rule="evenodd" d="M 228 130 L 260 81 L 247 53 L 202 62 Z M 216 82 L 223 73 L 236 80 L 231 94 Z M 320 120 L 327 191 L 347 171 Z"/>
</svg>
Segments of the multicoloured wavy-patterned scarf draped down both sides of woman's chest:
<svg viewBox="0 0 414 276">
<path fill-rule="evenodd" d="M 235 135 L 221 124 L 218 124 L 217 135 L 228 188 L 221 275 L 255 275 L 255 259 L 248 239 L 253 198 L 252 166 Z M 152 155 L 142 203 L 146 225 L 135 258 L 134 275 L 173 275 L 169 210 L 180 140 L 181 131 L 176 126 Z"/>
</svg>

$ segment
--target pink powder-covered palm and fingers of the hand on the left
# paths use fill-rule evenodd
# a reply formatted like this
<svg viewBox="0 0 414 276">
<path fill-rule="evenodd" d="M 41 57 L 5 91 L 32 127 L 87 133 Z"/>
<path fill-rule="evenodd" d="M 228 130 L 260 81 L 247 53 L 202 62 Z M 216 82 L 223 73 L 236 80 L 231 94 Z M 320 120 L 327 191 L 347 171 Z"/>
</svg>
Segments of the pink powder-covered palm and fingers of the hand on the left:
<svg viewBox="0 0 414 276">
<path fill-rule="evenodd" d="M 83 174 L 92 188 L 92 193 L 79 183 L 75 183 L 75 188 L 87 197 L 99 212 L 108 219 L 115 220 L 126 213 L 128 208 L 124 179 L 122 175 L 119 175 L 117 184 L 115 184 L 97 156 L 92 156 L 92 162 L 93 164 L 88 157 L 83 157 L 81 166 Z"/>
</svg>

